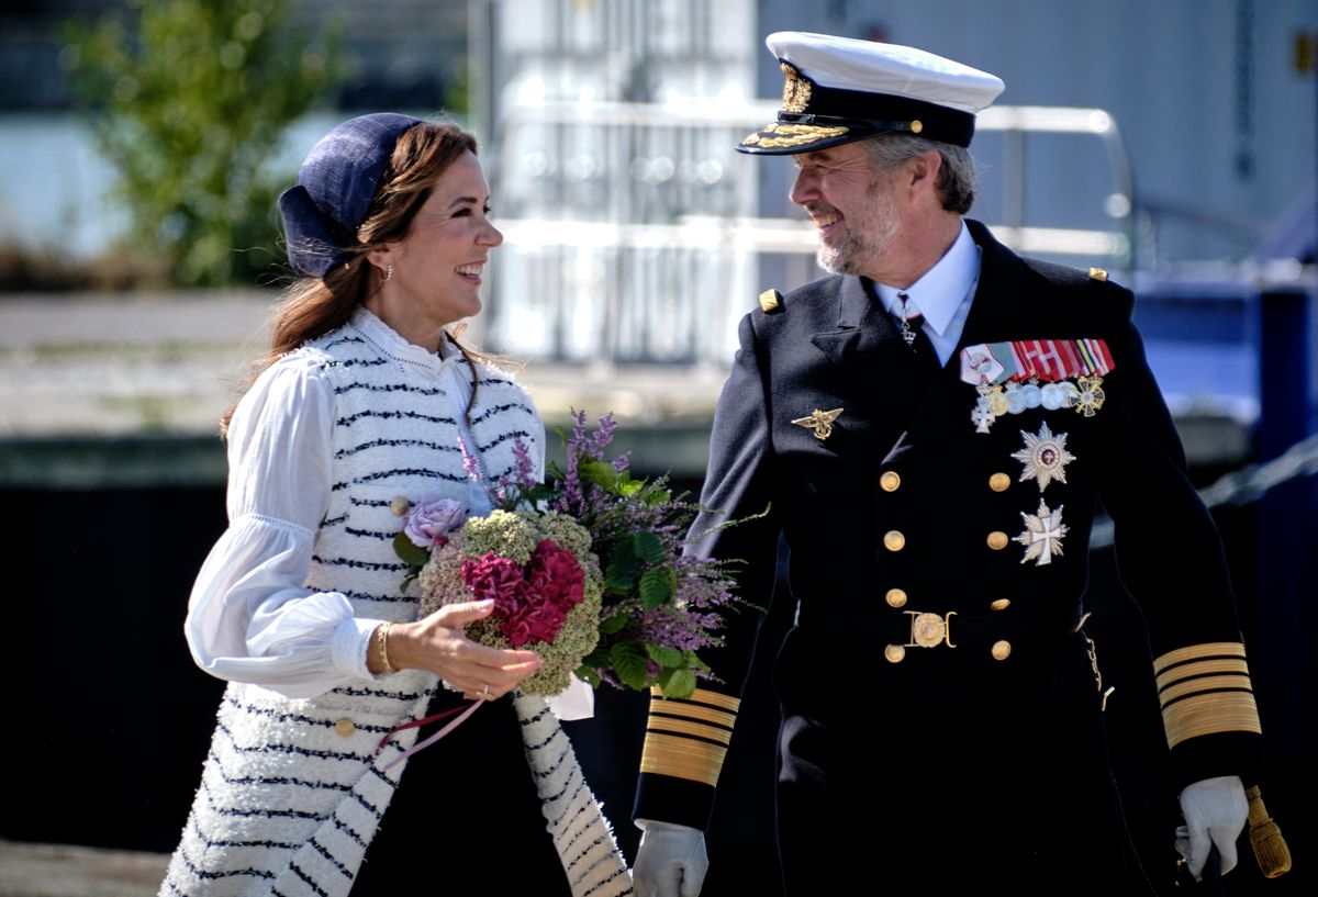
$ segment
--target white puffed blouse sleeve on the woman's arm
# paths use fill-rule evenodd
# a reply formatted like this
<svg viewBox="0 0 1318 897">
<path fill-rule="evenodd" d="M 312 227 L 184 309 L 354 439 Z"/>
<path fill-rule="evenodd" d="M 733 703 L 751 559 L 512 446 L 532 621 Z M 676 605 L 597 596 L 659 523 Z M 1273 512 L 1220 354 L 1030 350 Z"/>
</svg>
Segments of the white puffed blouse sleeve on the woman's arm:
<svg viewBox="0 0 1318 897">
<path fill-rule="evenodd" d="M 330 498 L 333 389 L 314 358 L 272 365 L 229 423 L 229 528 L 188 599 L 192 659 L 223 680 L 294 698 L 370 678 L 381 620 L 353 618 L 336 591 L 303 586 Z"/>
</svg>

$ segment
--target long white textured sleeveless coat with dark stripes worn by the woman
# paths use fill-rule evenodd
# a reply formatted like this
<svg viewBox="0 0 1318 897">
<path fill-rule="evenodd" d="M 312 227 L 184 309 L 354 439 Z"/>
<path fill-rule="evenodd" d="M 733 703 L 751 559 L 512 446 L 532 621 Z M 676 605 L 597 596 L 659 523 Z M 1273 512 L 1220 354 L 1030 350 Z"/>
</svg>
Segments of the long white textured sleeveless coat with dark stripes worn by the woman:
<svg viewBox="0 0 1318 897">
<path fill-rule="evenodd" d="M 401 518 L 390 502 L 399 495 L 465 498 L 460 433 L 474 445 L 488 478 L 507 474 L 514 440 L 543 439 L 535 408 L 510 377 L 477 365 L 467 429 L 461 403 L 445 395 L 447 378 L 438 375 L 442 365 L 461 360 L 418 357 L 415 346 L 365 311 L 295 354 L 333 387 L 333 485 L 306 585 L 341 593 L 362 619 L 415 619 L 416 599 L 399 591 L 405 568 L 391 540 Z M 422 718 L 436 688 L 436 677 L 420 670 L 361 680 L 314 698 L 231 682 L 159 893 L 348 894 L 407 761 L 384 767 L 415 743 L 416 728 L 397 734 L 378 757 L 376 746 L 399 723 Z M 558 719 L 542 699 L 519 697 L 514 705 L 546 827 L 572 892 L 630 893 L 630 873 Z M 416 761 L 422 759 L 424 753 Z M 435 847 L 443 857 L 443 840 Z M 507 863 L 517 863 L 517 847 L 503 846 Z"/>
</svg>

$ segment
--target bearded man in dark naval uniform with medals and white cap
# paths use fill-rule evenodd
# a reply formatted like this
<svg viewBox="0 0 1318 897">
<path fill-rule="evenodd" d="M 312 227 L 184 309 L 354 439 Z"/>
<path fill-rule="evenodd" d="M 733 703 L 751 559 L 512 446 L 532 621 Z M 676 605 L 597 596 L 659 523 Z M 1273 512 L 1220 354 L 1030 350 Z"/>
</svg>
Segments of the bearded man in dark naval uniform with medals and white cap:
<svg viewBox="0 0 1318 897">
<path fill-rule="evenodd" d="M 768 38 L 791 199 L 834 277 L 741 323 L 700 551 L 799 602 L 774 669 L 789 894 L 1147 884 L 1107 768 L 1082 628 L 1095 499 L 1148 622 L 1190 869 L 1236 861 L 1259 719 L 1220 541 L 1130 323 L 1131 294 L 1023 259 L 982 224 L 966 148 L 1003 90 L 909 47 Z M 766 507 L 768 512 L 760 514 Z M 724 518 L 742 520 L 713 528 Z M 747 615 L 750 616 L 750 615 Z M 754 620 L 689 701 L 651 702 L 641 897 L 691 897 Z M 776 645 L 766 645 L 772 649 Z"/>
</svg>

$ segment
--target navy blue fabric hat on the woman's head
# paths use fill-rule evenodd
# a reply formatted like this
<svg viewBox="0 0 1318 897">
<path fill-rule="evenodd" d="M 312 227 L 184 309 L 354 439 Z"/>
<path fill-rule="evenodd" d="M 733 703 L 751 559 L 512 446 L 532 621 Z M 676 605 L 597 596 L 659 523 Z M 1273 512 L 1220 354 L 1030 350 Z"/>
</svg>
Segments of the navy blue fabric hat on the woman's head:
<svg viewBox="0 0 1318 897">
<path fill-rule="evenodd" d="M 320 138 L 298 171 L 298 183 L 279 196 L 289 263 L 304 277 L 324 277 L 352 261 L 344 250 L 357 242 L 380 187 L 380 177 L 405 132 L 420 119 L 376 112 L 343 122 Z"/>
</svg>

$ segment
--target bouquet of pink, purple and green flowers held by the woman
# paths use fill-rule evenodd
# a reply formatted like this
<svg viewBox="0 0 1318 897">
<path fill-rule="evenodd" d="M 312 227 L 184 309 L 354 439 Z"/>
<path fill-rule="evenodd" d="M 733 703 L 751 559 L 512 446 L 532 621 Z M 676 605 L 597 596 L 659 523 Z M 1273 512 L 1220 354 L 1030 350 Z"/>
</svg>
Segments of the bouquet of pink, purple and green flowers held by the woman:
<svg viewBox="0 0 1318 897">
<path fill-rule="evenodd" d="M 394 549 L 416 581 L 422 612 L 453 602 L 494 599 L 494 611 L 468 624 L 468 638 L 534 651 L 544 664 L 523 680 L 527 694 L 556 694 L 571 673 L 598 685 L 689 697 L 709 666 L 697 651 L 721 643 L 734 610 L 726 565 L 683 555 L 699 506 L 673 495 L 667 477 L 633 479 L 626 456 L 605 460 L 612 415 L 587 431 L 573 412 L 561 428 L 567 468 L 535 481 L 525 445 L 517 470 L 486 483 L 467 454 L 467 472 L 496 510 L 467 518 L 451 499 L 402 502 Z"/>
</svg>

